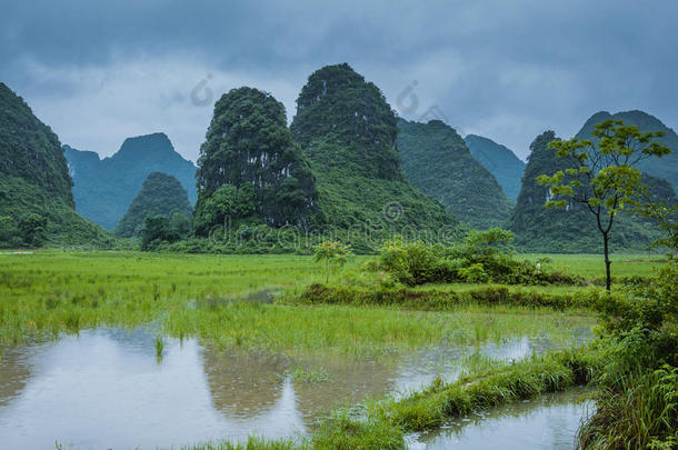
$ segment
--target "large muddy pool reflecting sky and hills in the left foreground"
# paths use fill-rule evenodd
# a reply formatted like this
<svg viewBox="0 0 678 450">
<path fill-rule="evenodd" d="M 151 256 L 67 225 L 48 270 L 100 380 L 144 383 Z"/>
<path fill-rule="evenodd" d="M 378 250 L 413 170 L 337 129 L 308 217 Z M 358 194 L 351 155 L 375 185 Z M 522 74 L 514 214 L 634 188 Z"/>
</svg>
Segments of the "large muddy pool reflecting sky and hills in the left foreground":
<svg viewBox="0 0 678 450">
<path fill-rule="evenodd" d="M 100 329 L 6 351 L 0 449 L 53 448 L 54 441 L 76 449 L 156 448 L 303 434 L 338 406 L 407 392 L 438 376 L 453 378 L 465 354 L 520 359 L 552 347 L 548 339 L 524 337 L 356 362 L 236 354 L 171 339 L 158 359 L 154 342 L 144 329 Z M 297 367 L 329 379 L 292 381 L 288 374 Z"/>
</svg>

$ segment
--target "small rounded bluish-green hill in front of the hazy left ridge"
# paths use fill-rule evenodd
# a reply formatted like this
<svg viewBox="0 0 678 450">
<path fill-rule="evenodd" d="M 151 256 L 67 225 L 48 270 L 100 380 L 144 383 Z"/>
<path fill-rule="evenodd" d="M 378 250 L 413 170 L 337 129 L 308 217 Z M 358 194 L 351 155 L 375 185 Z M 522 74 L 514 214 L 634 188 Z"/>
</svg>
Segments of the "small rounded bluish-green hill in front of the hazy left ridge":
<svg viewBox="0 0 678 450">
<path fill-rule="evenodd" d="M 151 172 L 139 194 L 132 201 L 126 214 L 116 228 L 116 234 L 131 238 L 139 234 L 143 220 L 149 216 L 170 216 L 175 220 L 180 220 L 179 216 L 191 217 L 192 209 L 188 202 L 186 190 L 179 181 L 172 177 L 160 172 Z M 186 223 L 177 227 L 186 227 Z M 181 236 L 187 236 L 190 231 L 182 230 Z"/>
</svg>

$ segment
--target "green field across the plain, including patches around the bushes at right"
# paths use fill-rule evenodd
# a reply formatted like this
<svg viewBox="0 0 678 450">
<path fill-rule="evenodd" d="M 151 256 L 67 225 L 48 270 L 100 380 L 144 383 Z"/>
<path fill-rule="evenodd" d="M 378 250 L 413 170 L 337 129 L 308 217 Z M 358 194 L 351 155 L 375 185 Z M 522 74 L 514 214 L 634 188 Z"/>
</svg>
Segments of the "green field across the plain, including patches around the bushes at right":
<svg viewBox="0 0 678 450">
<path fill-rule="evenodd" d="M 537 258 L 537 256 L 531 256 Z M 544 257 L 544 256 L 539 256 Z M 361 277 L 360 266 L 372 257 L 355 257 L 346 277 Z M 584 277 L 602 273 L 600 257 L 549 256 L 554 267 Z M 615 256 L 617 277 L 650 276 L 661 259 Z M 338 283 L 332 274 L 331 282 Z M 141 252 L 60 252 L 0 254 L 0 342 L 57 337 L 60 332 L 100 326 L 136 327 L 159 323 L 173 336 L 200 336 L 222 346 L 322 350 L 347 347 L 380 349 L 389 344 L 430 343 L 472 320 L 446 313 L 373 308 L 303 308 L 258 302 L 231 302 L 260 292 L 272 294 L 323 282 L 320 264 L 305 256 L 205 256 Z M 350 281 L 347 281 L 350 282 Z M 465 291 L 478 284 L 431 284 Z M 511 287 L 516 290 L 567 293 L 578 287 Z M 508 316 L 535 311 L 516 310 Z M 455 312 L 459 314 L 482 312 Z M 467 318 L 468 319 L 468 318 Z M 509 320 L 510 321 L 510 320 Z M 351 323 L 352 330 L 342 327 Z M 525 332 L 530 321 L 511 326 Z M 496 323 L 496 334 L 502 333 Z M 266 329 L 267 332 L 261 332 Z M 293 331 L 290 331 L 293 330 Z M 323 330 L 320 332 L 320 330 Z M 490 332 L 491 333 L 491 332 Z M 458 332 L 458 336 L 463 334 Z M 347 341 L 350 343 L 347 344 Z M 376 347 L 372 347 L 376 346 Z"/>
</svg>

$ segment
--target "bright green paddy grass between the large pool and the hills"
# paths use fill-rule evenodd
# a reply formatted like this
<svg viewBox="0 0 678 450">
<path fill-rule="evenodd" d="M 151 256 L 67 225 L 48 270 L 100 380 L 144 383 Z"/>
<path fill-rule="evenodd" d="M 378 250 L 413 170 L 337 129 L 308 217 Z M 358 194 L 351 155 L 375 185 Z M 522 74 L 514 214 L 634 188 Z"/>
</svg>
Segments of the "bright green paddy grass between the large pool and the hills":
<svg viewBox="0 0 678 450">
<path fill-rule="evenodd" d="M 360 262 L 349 262 L 349 270 Z M 166 334 L 198 337 L 223 349 L 379 356 L 442 341 L 472 344 L 478 337 L 549 336 L 566 342 L 572 328 L 595 322 L 528 308 L 469 306 L 423 312 L 232 301 L 263 289 L 301 287 L 323 276 L 321 266 L 297 256 L 59 251 L 1 256 L 0 344 L 153 322 Z"/>
</svg>

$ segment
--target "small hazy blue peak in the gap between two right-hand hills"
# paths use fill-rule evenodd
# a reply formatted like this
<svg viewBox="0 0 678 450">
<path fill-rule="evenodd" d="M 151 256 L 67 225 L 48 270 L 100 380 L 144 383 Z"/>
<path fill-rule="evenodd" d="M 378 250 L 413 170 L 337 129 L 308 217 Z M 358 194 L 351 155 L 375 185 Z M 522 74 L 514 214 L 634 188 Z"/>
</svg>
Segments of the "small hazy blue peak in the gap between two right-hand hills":
<svg viewBox="0 0 678 450">
<path fill-rule="evenodd" d="M 506 197 L 514 202 L 518 200 L 526 163 L 511 149 L 491 139 L 468 134 L 463 141 L 473 158 L 495 176 Z"/>
</svg>

